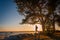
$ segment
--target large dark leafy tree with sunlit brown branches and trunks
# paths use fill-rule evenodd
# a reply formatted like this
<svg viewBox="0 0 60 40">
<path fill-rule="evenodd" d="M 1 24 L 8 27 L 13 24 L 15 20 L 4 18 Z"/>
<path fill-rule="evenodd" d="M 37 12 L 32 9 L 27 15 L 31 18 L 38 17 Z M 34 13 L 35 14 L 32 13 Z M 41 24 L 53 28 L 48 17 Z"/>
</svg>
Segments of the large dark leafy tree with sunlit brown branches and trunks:
<svg viewBox="0 0 60 40">
<path fill-rule="evenodd" d="M 53 28 L 55 30 L 55 22 L 59 23 L 60 15 L 57 14 L 56 8 L 59 0 L 15 0 L 18 12 L 25 16 L 22 24 L 35 24 L 42 25 L 43 31 Z"/>
</svg>

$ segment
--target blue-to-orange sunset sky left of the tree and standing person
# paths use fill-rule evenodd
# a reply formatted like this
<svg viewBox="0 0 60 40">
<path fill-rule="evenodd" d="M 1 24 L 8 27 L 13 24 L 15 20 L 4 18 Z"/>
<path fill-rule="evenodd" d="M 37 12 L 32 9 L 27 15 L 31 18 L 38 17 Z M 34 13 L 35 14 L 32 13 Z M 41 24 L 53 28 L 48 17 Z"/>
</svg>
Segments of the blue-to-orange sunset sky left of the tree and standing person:
<svg viewBox="0 0 60 40">
<path fill-rule="evenodd" d="M 34 31 L 34 25 L 19 24 L 23 18 L 19 15 L 13 0 L 0 0 L 0 31 Z"/>
</svg>

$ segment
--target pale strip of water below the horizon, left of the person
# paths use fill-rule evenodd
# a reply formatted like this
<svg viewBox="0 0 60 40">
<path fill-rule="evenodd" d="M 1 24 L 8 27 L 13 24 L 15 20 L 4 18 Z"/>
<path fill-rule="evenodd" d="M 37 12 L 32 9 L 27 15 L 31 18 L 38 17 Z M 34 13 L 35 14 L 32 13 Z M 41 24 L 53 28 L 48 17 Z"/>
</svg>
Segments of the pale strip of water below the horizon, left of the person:
<svg viewBox="0 0 60 40">
<path fill-rule="evenodd" d="M 0 39 L 4 39 L 5 37 L 9 37 L 11 35 L 19 35 L 19 34 L 34 34 L 34 32 L 27 32 L 27 31 L 21 31 L 21 32 L 0 32 Z"/>
</svg>

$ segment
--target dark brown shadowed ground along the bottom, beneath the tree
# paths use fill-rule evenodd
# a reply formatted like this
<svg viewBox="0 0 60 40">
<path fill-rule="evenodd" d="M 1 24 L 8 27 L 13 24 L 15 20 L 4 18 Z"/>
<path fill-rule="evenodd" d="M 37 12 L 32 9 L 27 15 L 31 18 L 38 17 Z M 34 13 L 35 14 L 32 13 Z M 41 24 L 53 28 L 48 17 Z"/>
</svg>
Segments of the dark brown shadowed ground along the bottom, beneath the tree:
<svg viewBox="0 0 60 40">
<path fill-rule="evenodd" d="M 39 36 L 40 35 L 40 36 Z M 19 34 L 6 37 L 0 40 L 60 40 L 60 32 L 54 34 Z"/>
</svg>

